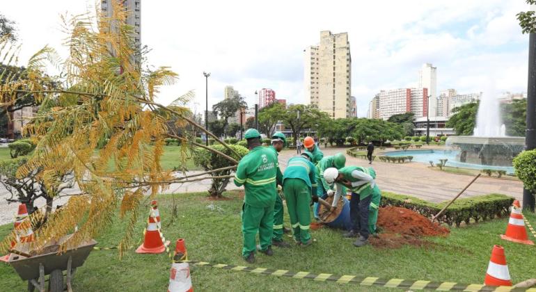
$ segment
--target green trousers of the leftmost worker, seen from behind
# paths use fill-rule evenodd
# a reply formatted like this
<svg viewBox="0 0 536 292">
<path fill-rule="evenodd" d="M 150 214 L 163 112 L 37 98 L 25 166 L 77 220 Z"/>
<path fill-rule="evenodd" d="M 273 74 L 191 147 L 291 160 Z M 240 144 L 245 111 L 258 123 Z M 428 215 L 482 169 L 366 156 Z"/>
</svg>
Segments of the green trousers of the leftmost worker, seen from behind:
<svg viewBox="0 0 536 292">
<path fill-rule="evenodd" d="M 274 205 L 255 207 L 244 203 L 242 205 L 242 257 L 247 258 L 251 252 L 257 250 L 255 237 L 259 232 L 261 250 L 267 250 L 271 245 L 271 236 L 274 228 Z"/>
</svg>

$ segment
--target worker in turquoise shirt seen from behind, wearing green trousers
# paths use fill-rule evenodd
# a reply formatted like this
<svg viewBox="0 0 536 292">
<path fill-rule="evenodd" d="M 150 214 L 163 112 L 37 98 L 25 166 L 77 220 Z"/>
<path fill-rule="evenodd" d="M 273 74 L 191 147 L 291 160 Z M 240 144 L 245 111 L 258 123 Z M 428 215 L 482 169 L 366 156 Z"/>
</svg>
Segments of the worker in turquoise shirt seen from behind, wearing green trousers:
<svg viewBox="0 0 536 292">
<path fill-rule="evenodd" d="M 318 202 L 315 165 L 310 162 L 311 159 L 313 155 L 310 152 L 292 157 L 283 175 L 283 192 L 287 200 L 294 241 L 304 247 L 313 243 L 309 234 L 310 202 Z"/>
</svg>

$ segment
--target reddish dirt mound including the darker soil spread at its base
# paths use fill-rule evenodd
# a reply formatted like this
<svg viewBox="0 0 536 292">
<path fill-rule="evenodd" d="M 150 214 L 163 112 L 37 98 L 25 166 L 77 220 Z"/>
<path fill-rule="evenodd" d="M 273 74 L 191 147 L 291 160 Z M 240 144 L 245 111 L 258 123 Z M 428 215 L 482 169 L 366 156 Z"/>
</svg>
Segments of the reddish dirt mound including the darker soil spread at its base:
<svg viewBox="0 0 536 292">
<path fill-rule="evenodd" d="M 382 229 L 379 237 L 369 238 L 375 248 L 426 247 L 434 244 L 423 241 L 423 236 L 447 236 L 450 233 L 419 213 L 393 206 L 379 209 L 377 226 Z"/>
</svg>

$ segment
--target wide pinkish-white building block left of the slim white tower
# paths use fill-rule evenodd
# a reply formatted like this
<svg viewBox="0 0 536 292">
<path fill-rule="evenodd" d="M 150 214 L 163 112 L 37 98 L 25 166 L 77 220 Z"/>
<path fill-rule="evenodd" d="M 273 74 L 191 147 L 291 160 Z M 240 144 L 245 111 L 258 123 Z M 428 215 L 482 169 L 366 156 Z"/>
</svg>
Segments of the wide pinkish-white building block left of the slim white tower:
<svg viewBox="0 0 536 292">
<path fill-rule="evenodd" d="M 414 113 L 415 117 L 426 117 L 427 96 L 427 88 L 381 90 L 378 95 L 379 117 L 387 120 L 391 115 L 400 113 Z"/>
</svg>

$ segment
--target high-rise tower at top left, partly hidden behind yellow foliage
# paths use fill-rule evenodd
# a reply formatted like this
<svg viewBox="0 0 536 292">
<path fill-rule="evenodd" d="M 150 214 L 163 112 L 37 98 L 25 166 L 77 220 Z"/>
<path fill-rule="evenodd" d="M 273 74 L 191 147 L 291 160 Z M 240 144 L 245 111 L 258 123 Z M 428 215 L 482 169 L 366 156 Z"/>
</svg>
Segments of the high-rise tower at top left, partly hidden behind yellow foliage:
<svg viewBox="0 0 536 292">
<path fill-rule="evenodd" d="M 141 0 L 102 0 L 100 9 L 104 17 L 112 17 L 113 1 L 120 3 L 127 10 L 126 22 L 134 29 L 134 60 L 139 67 L 141 63 Z M 111 28 L 113 29 L 113 27 Z"/>
</svg>

